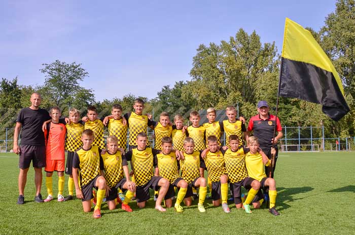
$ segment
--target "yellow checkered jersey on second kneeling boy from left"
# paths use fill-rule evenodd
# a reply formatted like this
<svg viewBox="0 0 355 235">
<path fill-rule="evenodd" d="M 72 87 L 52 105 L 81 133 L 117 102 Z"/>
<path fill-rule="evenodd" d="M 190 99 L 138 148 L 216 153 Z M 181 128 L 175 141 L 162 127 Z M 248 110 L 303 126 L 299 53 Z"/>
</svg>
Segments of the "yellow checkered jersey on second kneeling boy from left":
<svg viewBox="0 0 355 235">
<path fill-rule="evenodd" d="M 125 156 L 121 156 L 121 152 L 117 151 L 110 154 L 107 151 L 101 155 L 103 161 L 103 170 L 107 185 L 112 188 L 123 178 L 123 166 L 127 166 Z"/>
</svg>

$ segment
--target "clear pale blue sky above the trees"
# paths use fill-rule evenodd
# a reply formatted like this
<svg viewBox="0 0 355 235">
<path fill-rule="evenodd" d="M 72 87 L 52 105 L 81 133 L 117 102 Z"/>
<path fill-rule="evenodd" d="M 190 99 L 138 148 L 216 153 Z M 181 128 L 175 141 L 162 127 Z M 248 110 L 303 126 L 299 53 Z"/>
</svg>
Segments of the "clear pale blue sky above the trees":
<svg viewBox="0 0 355 235">
<path fill-rule="evenodd" d="M 154 98 L 164 85 L 190 80 L 200 44 L 239 28 L 280 53 L 285 17 L 319 30 L 335 1 L 3 1 L 0 77 L 42 85 L 43 63 L 82 63 L 81 85 L 96 100 L 131 93 Z"/>
</svg>

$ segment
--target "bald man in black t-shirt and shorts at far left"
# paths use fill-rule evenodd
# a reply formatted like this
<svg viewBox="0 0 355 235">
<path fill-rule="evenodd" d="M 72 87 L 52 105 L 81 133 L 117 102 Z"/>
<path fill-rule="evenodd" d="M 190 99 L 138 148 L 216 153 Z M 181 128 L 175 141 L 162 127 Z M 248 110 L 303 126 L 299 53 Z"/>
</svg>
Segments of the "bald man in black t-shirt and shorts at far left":
<svg viewBox="0 0 355 235">
<path fill-rule="evenodd" d="M 40 108 L 41 95 L 33 93 L 30 98 L 31 106 L 21 109 L 16 120 L 14 132 L 14 152 L 20 155 L 18 176 L 19 197 L 17 204 L 24 203 L 23 191 L 26 185 L 27 172 L 32 161 L 34 168 L 34 184 L 36 187 L 35 202 L 44 202 L 41 195 L 42 168 L 46 166 L 45 136 L 42 125 L 50 120 L 47 110 Z M 22 127 L 21 145 L 18 137 Z"/>
</svg>

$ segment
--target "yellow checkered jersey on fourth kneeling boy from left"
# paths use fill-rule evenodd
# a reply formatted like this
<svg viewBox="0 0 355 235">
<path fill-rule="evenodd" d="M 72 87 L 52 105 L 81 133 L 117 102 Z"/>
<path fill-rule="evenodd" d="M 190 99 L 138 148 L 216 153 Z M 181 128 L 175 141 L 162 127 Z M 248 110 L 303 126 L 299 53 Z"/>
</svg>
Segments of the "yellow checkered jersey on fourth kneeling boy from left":
<svg viewBox="0 0 355 235">
<path fill-rule="evenodd" d="M 170 183 L 180 177 L 179 172 L 177 172 L 177 160 L 174 152 L 157 154 L 155 162 L 159 169 L 159 176 L 169 180 Z"/>
</svg>

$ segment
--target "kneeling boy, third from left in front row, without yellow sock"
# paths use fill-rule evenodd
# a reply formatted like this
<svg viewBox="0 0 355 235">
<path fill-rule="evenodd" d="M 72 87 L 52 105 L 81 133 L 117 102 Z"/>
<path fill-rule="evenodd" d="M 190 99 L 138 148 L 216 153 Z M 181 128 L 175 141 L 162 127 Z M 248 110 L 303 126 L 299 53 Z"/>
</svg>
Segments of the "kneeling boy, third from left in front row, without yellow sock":
<svg viewBox="0 0 355 235">
<path fill-rule="evenodd" d="M 131 161 L 134 180 L 136 184 L 135 195 L 139 208 L 144 208 L 146 202 L 150 199 L 149 188 L 159 190 L 155 209 L 164 212 L 165 208 L 161 206 L 163 198 L 169 188 L 169 181 L 165 178 L 154 176 L 154 158 L 153 155 L 160 151 L 147 147 L 148 137 L 146 133 L 140 132 L 137 134 L 137 147 L 129 150 L 126 153 L 126 160 Z"/>
</svg>

